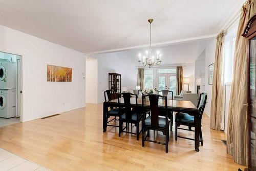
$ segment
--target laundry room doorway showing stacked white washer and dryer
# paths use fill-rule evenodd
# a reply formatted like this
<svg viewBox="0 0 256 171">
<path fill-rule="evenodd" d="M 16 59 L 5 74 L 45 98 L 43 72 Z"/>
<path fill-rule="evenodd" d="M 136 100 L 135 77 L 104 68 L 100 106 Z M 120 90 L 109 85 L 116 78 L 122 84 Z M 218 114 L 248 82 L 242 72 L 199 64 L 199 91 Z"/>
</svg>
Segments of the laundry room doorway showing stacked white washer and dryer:
<svg viewBox="0 0 256 171">
<path fill-rule="evenodd" d="M 22 56 L 0 51 L 0 127 L 22 121 Z"/>
</svg>

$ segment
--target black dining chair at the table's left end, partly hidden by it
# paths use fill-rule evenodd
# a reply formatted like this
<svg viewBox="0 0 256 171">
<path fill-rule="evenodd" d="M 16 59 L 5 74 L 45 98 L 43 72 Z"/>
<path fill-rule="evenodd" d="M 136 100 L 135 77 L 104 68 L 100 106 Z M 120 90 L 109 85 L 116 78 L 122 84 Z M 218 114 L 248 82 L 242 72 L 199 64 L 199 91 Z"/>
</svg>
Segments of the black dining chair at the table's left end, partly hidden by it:
<svg viewBox="0 0 256 171">
<path fill-rule="evenodd" d="M 105 102 L 106 102 L 106 101 L 111 101 L 112 98 L 114 97 L 113 94 L 114 94 L 114 91 L 113 91 L 113 90 L 105 90 L 105 91 L 104 91 L 104 99 L 105 99 Z M 110 121 L 107 120 L 107 126 L 119 127 L 119 126 L 116 126 L 116 125 L 109 125 L 109 124 L 108 124 L 109 122 L 111 122 L 111 121 L 113 121 L 113 120 L 116 122 L 116 117 L 119 117 L 119 108 L 118 108 L 118 107 L 116 107 L 116 108 L 111 107 L 110 110 L 107 111 L 106 116 L 108 117 L 108 119 L 109 119 L 110 117 L 114 117 L 114 119 L 112 119 L 112 120 L 110 120 Z"/>
</svg>

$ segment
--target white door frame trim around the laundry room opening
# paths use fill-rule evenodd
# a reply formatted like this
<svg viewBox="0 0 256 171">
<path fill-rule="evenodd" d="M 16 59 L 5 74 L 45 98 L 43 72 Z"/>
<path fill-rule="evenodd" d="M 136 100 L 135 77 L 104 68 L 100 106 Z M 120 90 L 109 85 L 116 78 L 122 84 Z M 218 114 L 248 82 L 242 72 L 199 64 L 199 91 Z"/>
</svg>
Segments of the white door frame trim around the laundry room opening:
<svg viewBox="0 0 256 171">
<path fill-rule="evenodd" d="M 8 51 L 2 51 L 0 50 L 0 52 L 2 53 L 7 53 L 7 54 L 13 54 L 13 55 L 18 55 L 20 56 L 20 91 L 22 91 L 22 93 L 20 93 L 20 117 L 19 120 L 20 122 L 23 122 L 23 55 L 18 54 L 18 53 L 11 53 Z M 17 85 L 17 78 L 16 78 L 16 85 Z M 18 94 L 18 92 L 17 92 Z M 16 94 L 16 110 L 17 110 L 17 94 Z"/>
</svg>

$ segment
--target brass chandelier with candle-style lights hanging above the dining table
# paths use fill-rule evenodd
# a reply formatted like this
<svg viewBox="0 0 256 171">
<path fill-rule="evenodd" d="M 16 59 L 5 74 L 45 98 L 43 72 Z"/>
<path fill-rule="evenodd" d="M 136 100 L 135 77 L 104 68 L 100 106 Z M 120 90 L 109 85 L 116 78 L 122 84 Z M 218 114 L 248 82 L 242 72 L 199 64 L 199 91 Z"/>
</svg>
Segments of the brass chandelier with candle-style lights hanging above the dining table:
<svg viewBox="0 0 256 171">
<path fill-rule="evenodd" d="M 161 64 L 161 56 L 162 54 L 160 54 L 159 51 L 157 51 L 156 53 L 156 61 L 155 61 L 155 56 L 152 55 L 152 49 L 151 49 L 151 23 L 153 22 L 153 19 L 150 18 L 148 19 L 148 23 L 150 23 L 150 47 L 148 48 L 148 50 L 146 50 L 145 55 L 143 55 L 143 57 L 141 56 L 141 53 L 139 53 L 139 63 L 142 62 L 142 65 L 145 66 L 149 66 L 150 68 L 154 65 L 160 65 Z M 141 61 L 141 57 L 143 58 L 143 61 Z"/>
</svg>

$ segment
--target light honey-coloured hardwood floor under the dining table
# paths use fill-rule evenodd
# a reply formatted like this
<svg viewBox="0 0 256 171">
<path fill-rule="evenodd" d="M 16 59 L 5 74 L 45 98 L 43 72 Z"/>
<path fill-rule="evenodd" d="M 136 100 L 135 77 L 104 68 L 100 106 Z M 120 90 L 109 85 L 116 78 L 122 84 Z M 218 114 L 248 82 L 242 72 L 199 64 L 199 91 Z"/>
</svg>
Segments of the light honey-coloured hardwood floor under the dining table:
<svg viewBox="0 0 256 171">
<path fill-rule="evenodd" d="M 164 145 L 145 142 L 142 147 L 141 136 L 139 141 L 131 134 L 118 137 L 117 127 L 108 127 L 103 133 L 102 104 L 87 104 L 55 117 L 1 127 L 0 147 L 52 170 L 244 169 L 226 154 L 221 142 L 225 134 L 210 130 L 206 115 L 202 124 L 204 146 L 200 152 L 194 150 L 194 141 L 175 141 L 171 132 L 166 154 Z M 178 131 L 183 136 L 194 134 Z M 154 137 L 164 140 L 162 132 L 152 131 Z"/>
</svg>

